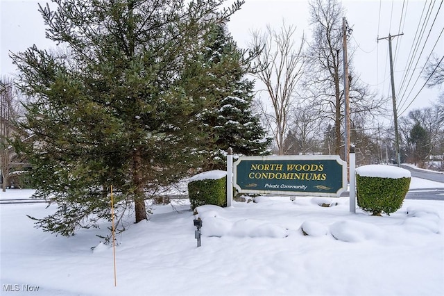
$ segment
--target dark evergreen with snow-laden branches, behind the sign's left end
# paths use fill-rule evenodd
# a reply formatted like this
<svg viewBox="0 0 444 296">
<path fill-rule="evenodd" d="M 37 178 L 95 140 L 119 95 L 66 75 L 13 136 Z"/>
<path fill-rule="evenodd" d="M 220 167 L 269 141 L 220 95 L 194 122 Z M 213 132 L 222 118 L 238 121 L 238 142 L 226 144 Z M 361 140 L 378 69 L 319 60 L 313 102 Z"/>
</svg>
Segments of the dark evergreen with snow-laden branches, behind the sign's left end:
<svg viewBox="0 0 444 296">
<path fill-rule="evenodd" d="M 271 138 L 266 137 L 259 116 L 251 108 L 254 82 L 246 78 L 244 51 L 237 47 L 225 24 L 214 24 L 204 44 L 205 50 L 196 55 L 192 70 L 185 74 L 185 84 L 192 97 L 204 96 L 214 102 L 200 113 L 200 121 L 210 134 L 200 154 L 205 156 L 204 170 L 223 170 L 228 147 L 235 154 L 264 155 Z M 205 76 L 200 75 L 202 72 Z"/>
</svg>

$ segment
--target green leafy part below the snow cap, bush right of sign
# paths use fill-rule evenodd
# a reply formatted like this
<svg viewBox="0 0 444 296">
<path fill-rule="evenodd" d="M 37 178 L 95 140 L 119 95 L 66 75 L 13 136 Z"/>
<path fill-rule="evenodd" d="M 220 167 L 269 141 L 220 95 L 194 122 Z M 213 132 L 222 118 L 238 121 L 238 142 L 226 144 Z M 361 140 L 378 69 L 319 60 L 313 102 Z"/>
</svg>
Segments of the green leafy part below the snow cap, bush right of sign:
<svg viewBox="0 0 444 296">
<path fill-rule="evenodd" d="M 356 189 L 359 208 L 373 215 L 381 213 L 389 215 L 398 211 L 409 191 L 410 179 L 410 177 L 393 179 L 386 176 L 361 176 L 358 171 Z"/>
</svg>

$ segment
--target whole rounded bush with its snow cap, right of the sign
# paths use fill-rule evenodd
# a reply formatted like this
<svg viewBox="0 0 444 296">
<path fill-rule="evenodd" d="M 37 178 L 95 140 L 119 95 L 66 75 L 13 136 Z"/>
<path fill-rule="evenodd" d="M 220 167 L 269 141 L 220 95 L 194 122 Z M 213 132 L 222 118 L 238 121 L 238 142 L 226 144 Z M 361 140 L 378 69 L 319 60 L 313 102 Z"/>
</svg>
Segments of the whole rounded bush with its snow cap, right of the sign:
<svg viewBox="0 0 444 296">
<path fill-rule="evenodd" d="M 381 215 L 401 208 L 409 191 L 408 170 L 389 165 L 364 165 L 356 170 L 356 190 L 359 208 Z"/>
</svg>

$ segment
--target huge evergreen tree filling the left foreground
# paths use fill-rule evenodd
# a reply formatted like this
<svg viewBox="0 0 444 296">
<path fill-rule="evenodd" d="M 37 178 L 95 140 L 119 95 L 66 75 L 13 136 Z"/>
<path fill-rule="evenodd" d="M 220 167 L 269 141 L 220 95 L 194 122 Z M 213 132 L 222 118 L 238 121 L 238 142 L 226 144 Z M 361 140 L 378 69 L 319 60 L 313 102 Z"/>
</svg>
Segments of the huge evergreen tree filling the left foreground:
<svg viewBox="0 0 444 296">
<path fill-rule="evenodd" d="M 196 115 L 214 104 L 191 100 L 182 74 L 204 33 L 243 1 L 54 2 L 40 8 L 46 36 L 66 50 L 14 55 L 35 140 L 16 146 L 33 165 L 35 197 L 58 206 L 37 226 L 69 236 L 110 220 L 110 186 L 117 221 L 128 209 L 145 220 L 147 193 L 185 176 L 207 138 Z"/>
</svg>

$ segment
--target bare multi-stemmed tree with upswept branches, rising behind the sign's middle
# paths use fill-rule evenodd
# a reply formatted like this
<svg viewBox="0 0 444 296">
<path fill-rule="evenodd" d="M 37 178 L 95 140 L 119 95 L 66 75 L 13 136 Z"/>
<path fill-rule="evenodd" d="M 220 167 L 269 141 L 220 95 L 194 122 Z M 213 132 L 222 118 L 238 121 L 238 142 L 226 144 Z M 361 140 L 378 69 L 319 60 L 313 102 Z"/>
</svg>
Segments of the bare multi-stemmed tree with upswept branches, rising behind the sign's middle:
<svg viewBox="0 0 444 296">
<path fill-rule="evenodd" d="M 302 36 L 297 46 L 293 40 L 296 26 L 282 24 L 280 31 L 267 26 L 265 33 L 253 33 L 253 47 L 262 48 L 253 65 L 255 76 L 264 83 L 271 101 L 272 113 L 267 112 L 267 103 L 262 102 L 262 113 L 268 128 L 273 131 L 279 155 L 284 154 L 284 140 L 288 131 L 289 113 L 296 100 L 296 85 L 305 63 Z"/>
</svg>

